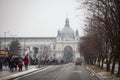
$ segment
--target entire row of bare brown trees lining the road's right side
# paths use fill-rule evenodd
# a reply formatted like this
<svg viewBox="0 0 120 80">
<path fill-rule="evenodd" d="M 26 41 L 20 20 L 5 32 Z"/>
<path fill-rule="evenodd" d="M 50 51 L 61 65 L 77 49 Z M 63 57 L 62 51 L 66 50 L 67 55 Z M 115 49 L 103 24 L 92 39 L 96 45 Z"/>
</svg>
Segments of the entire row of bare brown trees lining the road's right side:
<svg viewBox="0 0 120 80">
<path fill-rule="evenodd" d="M 120 76 L 120 0 L 86 0 L 89 16 L 85 36 L 81 37 L 79 51 L 86 63 L 97 64 L 103 69 L 115 71 Z M 112 69 L 110 69 L 112 64 Z"/>
</svg>

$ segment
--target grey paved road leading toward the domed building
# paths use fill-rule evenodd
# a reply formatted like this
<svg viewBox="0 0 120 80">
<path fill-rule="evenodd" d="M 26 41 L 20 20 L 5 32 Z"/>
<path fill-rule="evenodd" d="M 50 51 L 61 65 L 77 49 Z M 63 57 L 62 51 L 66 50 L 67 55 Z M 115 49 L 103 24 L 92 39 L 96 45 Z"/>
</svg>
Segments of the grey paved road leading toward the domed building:
<svg viewBox="0 0 120 80">
<path fill-rule="evenodd" d="M 95 80 L 84 66 L 69 63 L 19 77 L 15 80 Z"/>
</svg>

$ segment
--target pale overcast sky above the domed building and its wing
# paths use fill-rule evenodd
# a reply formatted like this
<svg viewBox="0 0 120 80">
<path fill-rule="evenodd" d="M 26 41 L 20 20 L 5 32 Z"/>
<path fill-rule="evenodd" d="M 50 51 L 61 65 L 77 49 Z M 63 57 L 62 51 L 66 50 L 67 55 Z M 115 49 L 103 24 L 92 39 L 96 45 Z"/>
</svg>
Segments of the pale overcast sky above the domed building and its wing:
<svg viewBox="0 0 120 80">
<path fill-rule="evenodd" d="M 0 36 L 56 37 L 66 17 L 83 35 L 85 11 L 76 0 L 0 0 Z"/>
</svg>

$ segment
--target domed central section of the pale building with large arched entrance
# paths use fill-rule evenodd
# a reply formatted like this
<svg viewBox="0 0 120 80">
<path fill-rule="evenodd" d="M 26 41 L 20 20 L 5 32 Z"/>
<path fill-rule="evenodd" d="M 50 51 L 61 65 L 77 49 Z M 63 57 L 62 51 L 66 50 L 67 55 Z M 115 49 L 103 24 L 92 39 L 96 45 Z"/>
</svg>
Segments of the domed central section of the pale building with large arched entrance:
<svg viewBox="0 0 120 80">
<path fill-rule="evenodd" d="M 66 18 L 65 26 L 60 31 L 58 30 L 57 40 L 55 42 L 56 57 L 60 59 L 71 60 L 80 57 L 78 52 L 79 33 L 70 27 L 69 19 Z"/>
</svg>

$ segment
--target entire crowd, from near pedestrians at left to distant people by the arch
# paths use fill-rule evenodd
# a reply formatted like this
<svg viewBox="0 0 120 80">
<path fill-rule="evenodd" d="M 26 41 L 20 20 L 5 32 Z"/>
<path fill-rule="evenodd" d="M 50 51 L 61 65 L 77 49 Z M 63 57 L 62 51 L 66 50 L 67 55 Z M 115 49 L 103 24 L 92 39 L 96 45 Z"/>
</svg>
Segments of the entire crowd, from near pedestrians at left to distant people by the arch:
<svg viewBox="0 0 120 80">
<path fill-rule="evenodd" d="M 0 60 L 1 61 L 1 60 Z M 65 64 L 71 62 L 69 60 L 58 60 L 56 58 L 34 58 L 28 56 L 9 56 L 2 59 L 2 66 L 8 67 L 10 71 L 22 71 L 23 66 L 25 70 L 28 70 L 28 65 L 56 65 L 56 64 Z"/>
</svg>

